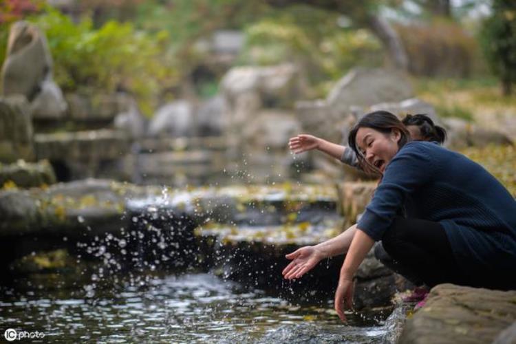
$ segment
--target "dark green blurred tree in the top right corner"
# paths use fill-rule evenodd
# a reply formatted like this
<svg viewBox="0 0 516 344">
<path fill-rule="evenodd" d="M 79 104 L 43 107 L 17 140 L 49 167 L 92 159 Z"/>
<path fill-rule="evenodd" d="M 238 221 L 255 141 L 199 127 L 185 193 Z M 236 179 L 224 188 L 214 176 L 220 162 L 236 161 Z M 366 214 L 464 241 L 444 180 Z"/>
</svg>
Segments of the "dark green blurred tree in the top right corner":
<svg viewBox="0 0 516 344">
<path fill-rule="evenodd" d="M 516 83 L 516 2 L 493 0 L 491 16 L 480 33 L 484 53 L 502 82 L 502 93 L 510 96 Z"/>
</svg>

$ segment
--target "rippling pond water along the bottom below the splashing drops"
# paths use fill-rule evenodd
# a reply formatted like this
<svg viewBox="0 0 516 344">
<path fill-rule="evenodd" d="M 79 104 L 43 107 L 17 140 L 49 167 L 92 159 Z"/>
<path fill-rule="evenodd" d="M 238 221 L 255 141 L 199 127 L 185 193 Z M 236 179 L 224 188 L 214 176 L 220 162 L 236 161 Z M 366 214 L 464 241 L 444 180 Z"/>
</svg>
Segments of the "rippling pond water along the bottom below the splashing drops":
<svg viewBox="0 0 516 344">
<path fill-rule="evenodd" d="M 0 286 L 2 336 L 7 328 L 39 331 L 45 343 L 380 343 L 380 317 L 350 313 L 344 325 L 330 300 L 294 305 L 198 272 L 129 272 L 97 283 L 40 274 Z"/>
</svg>

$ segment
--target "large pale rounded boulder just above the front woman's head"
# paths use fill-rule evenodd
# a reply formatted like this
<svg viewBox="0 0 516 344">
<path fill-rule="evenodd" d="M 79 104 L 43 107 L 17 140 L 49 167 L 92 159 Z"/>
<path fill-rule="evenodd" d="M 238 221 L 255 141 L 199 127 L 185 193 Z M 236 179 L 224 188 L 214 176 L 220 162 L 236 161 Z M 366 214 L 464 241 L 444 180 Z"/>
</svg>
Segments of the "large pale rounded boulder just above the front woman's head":
<svg viewBox="0 0 516 344">
<path fill-rule="evenodd" d="M 327 103 L 334 111 L 346 113 L 353 105 L 370 107 L 412 97 L 412 87 L 403 74 L 389 69 L 356 68 L 338 81 Z"/>
</svg>

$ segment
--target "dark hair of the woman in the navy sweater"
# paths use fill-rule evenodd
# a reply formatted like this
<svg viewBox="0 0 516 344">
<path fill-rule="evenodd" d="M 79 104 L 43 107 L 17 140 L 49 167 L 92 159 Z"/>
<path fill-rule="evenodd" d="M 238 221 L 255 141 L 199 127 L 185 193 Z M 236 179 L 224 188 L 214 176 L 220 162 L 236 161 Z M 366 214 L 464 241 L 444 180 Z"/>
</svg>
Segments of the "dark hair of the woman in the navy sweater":
<svg viewBox="0 0 516 344">
<path fill-rule="evenodd" d="M 360 128 L 371 128 L 376 131 L 380 131 L 380 133 L 391 133 L 393 129 L 398 129 L 400 131 L 400 140 L 398 141 L 398 148 L 405 146 L 407 142 L 411 140 L 410 133 L 403 125 L 403 123 L 396 117 L 394 114 L 391 114 L 389 111 L 374 111 L 371 112 L 361 120 L 354 125 L 353 129 L 350 131 L 350 137 L 348 138 L 348 144 L 353 149 L 353 151 L 356 153 L 356 156 L 358 158 L 359 164 L 365 167 L 367 166 L 372 172 L 380 173 L 376 166 L 373 166 L 372 164 L 369 164 L 367 160 L 365 160 L 365 157 L 361 153 L 361 151 L 358 149 L 356 145 L 356 133 L 358 132 L 358 129 Z"/>
</svg>

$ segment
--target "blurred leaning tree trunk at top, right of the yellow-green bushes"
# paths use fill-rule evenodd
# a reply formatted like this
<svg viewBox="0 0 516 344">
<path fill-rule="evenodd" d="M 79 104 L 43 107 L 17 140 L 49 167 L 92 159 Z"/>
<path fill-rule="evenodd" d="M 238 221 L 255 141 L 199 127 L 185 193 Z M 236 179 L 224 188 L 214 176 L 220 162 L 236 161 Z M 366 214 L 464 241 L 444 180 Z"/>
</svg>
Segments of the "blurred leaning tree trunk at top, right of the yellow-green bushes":
<svg viewBox="0 0 516 344">
<path fill-rule="evenodd" d="M 394 67 L 406 71 L 409 67 L 409 58 L 407 57 L 407 52 L 405 52 L 405 47 L 403 47 L 398 33 L 385 19 L 376 15 L 370 16 L 367 19 L 367 25 L 369 30 L 380 39 L 385 49 L 387 49 L 387 53 Z"/>
</svg>

